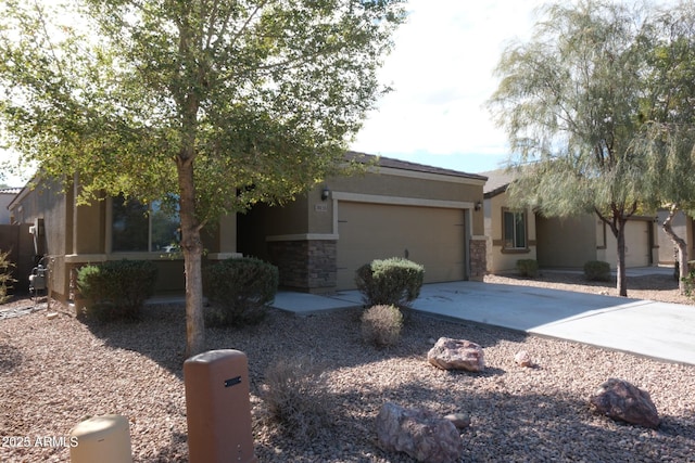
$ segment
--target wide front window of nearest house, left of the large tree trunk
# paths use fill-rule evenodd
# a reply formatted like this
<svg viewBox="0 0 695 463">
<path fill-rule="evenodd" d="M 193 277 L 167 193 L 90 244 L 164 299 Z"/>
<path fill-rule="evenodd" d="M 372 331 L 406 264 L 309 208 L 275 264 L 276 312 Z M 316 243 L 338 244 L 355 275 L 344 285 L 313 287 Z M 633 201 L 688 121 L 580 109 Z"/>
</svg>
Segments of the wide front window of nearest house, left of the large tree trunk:
<svg viewBox="0 0 695 463">
<path fill-rule="evenodd" d="M 170 253 L 179 242 L 178 213 L 165 211 L 162 203 L 142 204 L 114 197 L 112 202 L 111 250 Z"/>
</svg>

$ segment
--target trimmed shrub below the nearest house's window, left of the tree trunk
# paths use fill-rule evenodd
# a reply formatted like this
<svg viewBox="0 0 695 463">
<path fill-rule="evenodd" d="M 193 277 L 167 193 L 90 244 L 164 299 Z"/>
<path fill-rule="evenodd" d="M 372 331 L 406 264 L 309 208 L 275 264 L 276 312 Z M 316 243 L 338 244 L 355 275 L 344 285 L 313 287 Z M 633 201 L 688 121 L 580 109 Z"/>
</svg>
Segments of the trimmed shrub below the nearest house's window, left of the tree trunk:
<svg viewBox="0 0 695 463">
<path fill-rule="evenodd" d="M 100 321 L 137 320 L 154 294 L 156 266 L 149 260 L 111 260 L 85 266 L 77 288 L 87 298 L 87 317 Z"/>
</svg>

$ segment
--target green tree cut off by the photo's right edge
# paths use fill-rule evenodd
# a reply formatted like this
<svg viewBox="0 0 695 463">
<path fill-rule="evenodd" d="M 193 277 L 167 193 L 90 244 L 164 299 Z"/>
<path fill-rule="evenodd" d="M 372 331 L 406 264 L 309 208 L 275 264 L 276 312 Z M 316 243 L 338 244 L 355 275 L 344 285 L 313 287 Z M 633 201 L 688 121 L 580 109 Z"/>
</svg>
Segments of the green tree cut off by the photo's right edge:
<svg viewBox="0 0 695 463">
<path fill-rule="evenodd" d="M 646 124 L 633 149 L 646 158 L 652 206 L 666 207 L 661 227 L 678 248 L 679 288 L 688 273 L 687 243 L 672 227 L 679 210 L 695 214 L 695 7 L 684 2 L 660 12 L 643 41 L 648 91 L 641 114 Z"/>
</svg>

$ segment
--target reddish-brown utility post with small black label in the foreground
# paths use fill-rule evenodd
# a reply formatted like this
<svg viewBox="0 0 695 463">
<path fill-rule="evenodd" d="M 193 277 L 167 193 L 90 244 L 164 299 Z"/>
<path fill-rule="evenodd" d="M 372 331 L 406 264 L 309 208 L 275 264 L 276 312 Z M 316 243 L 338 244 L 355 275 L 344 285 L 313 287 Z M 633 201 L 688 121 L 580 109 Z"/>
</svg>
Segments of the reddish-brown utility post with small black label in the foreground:
<svg viewBox="0 0 695 463">
<path fill-rule="evenodd" d="M 184 383 L 189 462 L 256 462 L 247 355 L 222 349 L 191 357 Z"/>
</svg>

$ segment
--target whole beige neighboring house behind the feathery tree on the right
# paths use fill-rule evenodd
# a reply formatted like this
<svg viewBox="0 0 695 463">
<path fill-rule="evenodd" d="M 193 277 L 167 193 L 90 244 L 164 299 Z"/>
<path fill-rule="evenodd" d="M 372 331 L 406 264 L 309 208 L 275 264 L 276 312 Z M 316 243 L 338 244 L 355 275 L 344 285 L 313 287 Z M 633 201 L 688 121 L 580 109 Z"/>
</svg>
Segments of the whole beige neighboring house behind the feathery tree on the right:
<svg viewBox="0 0 695 463">
<path fill-rule="evenodd" d="M 589 260 L 604 260 L 615 269 L 617 242 L 595 214 L 577 217 L 543 217 L 532 210 L 506 208 L 506 190 L 511 173 L 481 172 L 484 188 L 488 271 L 514 270 L 517 259 L 536 259 L 541 268 L 582 269 Z M 526 234 L 525 234 L 526 233 Z M 626 267 L 648 267 L 659 262 L 654 216 L 634 216 L 626 227 Z"/>
</svg>

